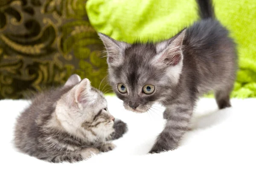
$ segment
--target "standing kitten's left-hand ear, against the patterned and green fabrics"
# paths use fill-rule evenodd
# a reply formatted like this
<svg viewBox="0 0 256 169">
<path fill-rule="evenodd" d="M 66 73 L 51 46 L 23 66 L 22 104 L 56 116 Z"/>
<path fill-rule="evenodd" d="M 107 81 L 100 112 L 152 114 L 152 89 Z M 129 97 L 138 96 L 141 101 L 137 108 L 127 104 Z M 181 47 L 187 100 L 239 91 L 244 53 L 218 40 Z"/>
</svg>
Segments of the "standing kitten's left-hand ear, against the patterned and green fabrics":
<svg viewBox="0 0 256 169">
<path fill-rule="evenodd" d="M 105 45 L 108 55 L 108 65 L 117 66 L 122 63 L 122 54 L 125 51 L 125 48 L 130 46 L 128 43 L 117 41 L 111 37 L 108 37 L 105 34 L 98 33 L 100 39 Z"/>
</svg>

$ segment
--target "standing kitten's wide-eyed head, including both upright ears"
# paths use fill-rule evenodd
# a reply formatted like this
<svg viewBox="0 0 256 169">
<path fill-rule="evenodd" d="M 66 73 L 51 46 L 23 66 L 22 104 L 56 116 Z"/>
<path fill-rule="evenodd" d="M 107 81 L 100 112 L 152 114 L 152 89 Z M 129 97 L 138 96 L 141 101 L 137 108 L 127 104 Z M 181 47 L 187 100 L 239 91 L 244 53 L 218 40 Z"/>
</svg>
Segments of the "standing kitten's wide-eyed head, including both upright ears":
<svg viewBox="0 0 256 169">
<path fill-rule="evenodd" d="M 145 112 L 172 94 L 183 68 L 185 33 L 158 43 L 134 44 L 99 33 L 107 51 L 110 84 L 127 110 Z"/>
</svg>

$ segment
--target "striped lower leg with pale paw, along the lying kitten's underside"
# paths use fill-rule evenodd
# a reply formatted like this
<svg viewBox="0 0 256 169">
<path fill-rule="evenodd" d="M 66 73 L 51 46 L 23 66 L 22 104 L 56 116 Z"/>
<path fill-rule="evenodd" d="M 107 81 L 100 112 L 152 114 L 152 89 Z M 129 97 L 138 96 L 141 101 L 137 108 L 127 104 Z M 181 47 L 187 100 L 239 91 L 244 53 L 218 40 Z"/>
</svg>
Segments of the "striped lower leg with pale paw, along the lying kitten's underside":
<svg viewBox="0 0 256 169">
<path fill-rule="evenodd" d="M 53 162 L 53 163 L 60 163 L 60 162 L 78 162 L 82 160 L 86 160 L 87 158 L 90 158 L 94 154 L 99 154 L 99 149 L 96 148 L 84 148 L 80 151 L 60 151 L 57 154 L 55 154 L 52 158 L 47 157 L 47 161 Z"/>
</svg>

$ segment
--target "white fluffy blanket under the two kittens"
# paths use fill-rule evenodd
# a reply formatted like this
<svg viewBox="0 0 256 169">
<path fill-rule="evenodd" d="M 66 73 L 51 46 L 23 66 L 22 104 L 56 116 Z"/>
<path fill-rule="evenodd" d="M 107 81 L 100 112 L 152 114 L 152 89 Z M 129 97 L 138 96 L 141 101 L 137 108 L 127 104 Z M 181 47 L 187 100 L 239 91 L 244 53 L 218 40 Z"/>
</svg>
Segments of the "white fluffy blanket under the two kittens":
<svg viewBox="0 0 256 169">
<path fill-rule="evenodd" d="M 243 168 L 256 169 L 256 99 L 233 99 L 233 107 L 218 110 L 214 99 L 200 99 L 194 113 L 193 130 L 180 148 L 147 154 L 164 127 L 163 107 L 150 113 L 124 110 L 122 102 L 108 96 L 109 111 L 128 124 L 128 132 L 114 141 L 116 149 L 79 163 L 48 163 L 17 152 L 12 144 L 17 115 L 29 104 L 26 100 L 0 101 L 1 168 Z M 7 165 L 6 167 L 3 167 Z"/>
</svg>

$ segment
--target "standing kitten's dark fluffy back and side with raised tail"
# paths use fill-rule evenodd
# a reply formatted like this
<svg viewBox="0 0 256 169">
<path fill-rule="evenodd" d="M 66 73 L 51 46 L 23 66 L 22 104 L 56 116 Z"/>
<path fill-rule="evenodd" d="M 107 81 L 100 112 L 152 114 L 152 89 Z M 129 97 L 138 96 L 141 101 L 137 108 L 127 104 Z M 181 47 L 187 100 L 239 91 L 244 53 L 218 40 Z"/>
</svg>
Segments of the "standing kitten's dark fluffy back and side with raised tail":
<svg viewBox="0 0 256 169">
<path fill-rule="evenodd" d="M 187 59 L 192 57 L 196 62 L 201 77 L 199 92 L 204 93 L 233 84 L 237 54 L 236 43 L 230 37 L 229 30 L 215 18 L 212 1 L 197 2 L 201 20 L 187 28 L 183 43 Z"/>
</svg>

